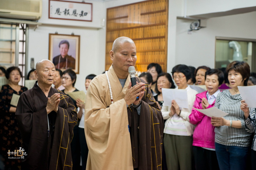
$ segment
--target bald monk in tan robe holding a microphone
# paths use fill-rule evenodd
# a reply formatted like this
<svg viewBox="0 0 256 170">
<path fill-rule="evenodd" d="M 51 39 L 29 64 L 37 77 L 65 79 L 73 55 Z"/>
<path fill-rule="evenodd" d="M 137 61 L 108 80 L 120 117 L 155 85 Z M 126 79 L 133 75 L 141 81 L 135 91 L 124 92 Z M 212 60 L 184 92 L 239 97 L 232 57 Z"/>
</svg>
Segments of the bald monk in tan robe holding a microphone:
<svg viewBox="0 0 256 170">
<path fill-rule="evenodd" d="M 86 95 L 86 169 L 160 170 L 163 117 L 142 79 L 131 87 L 128 68 L 137 60 L 135 44 L 119 37 L 109 55 L 113 64 L 92 79 Z"/>
</svg>

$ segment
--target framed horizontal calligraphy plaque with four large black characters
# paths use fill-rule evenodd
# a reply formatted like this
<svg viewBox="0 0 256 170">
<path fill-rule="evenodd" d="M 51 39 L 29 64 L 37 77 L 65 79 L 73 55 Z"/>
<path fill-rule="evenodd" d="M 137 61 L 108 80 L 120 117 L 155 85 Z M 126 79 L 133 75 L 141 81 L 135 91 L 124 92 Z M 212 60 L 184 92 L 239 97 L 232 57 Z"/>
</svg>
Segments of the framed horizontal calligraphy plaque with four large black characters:
<svg viewBox="0 0 256 170">
<path fill-rule="evenodd" d="M 49 0 L 49 18 L 92 21 L 92 3 Z"/>
</svg>

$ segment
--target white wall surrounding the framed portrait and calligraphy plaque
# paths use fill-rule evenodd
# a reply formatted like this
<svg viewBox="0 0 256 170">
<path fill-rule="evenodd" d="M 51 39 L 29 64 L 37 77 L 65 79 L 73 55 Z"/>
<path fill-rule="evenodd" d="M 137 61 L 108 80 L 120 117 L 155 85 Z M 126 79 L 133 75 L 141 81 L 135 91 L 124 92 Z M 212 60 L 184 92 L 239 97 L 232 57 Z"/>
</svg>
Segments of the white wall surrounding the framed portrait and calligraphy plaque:
<svg viewBox="0 0 256 170">
<path fill-rule="evenodd" d="M 88 1 L 86 1 L 88 2 Z M 48 59 L 49 33 L 80 35 L 80 65 L 77 74 L 75 87 L 78 90 L 85 90 L 84 81 L 88 74 L 101 74 L 105 68 L 105 37 L 102 36 L 101 26 L 103 18 L 103 3 L 92 1 L 93 15 L 92 22 L 72 21 L 48 18 L 48 1 L 43 1 L 42 18 L 38 21 L 44 24 L 69 25 L 63 26 L 40 26 L 34 31 L 34 26 L 29 29 L 28 39 L 28 71 L 30 70 L 30 59 L 35 58 L 35 63 L 42 59 Z M 74 28 L 72 26 L 84 26 L 86 28 Z M 103 49 L 102 49 L 103 48 Z M 102 50 L 101 50 L 102 49 Z"/>
</svg>

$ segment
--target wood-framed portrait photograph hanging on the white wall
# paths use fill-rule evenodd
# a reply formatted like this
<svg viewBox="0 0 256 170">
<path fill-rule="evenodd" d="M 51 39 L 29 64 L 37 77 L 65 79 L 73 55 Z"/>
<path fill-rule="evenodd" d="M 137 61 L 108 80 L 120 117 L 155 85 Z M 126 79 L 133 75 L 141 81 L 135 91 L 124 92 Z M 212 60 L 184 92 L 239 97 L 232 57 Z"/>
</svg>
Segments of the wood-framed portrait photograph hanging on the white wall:
<svg viewBox="0 0 256 170">
<path fill-rule="evenodd" d="M 49 60 L 56 69 L 79 74 L 80 35 L 49 34 Z"/>
</svg>

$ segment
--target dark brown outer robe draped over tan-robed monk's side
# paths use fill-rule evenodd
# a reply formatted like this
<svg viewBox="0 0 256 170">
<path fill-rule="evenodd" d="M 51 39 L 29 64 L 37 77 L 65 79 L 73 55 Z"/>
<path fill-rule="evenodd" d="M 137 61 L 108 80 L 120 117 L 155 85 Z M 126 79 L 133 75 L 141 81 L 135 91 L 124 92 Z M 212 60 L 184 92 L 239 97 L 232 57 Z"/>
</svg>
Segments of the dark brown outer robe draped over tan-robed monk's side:
<svg viewBox="0 0 256 170">
<path fill-rule="evenodd" d="M 136 81 L 145 83 L 137 77 Z M 139 170 L 161 170 L 164 119 L 149 86 L 146 83 L 145 86 L 140 115 L 136 108 L 127 108 L 133 167 Z"/>
</svg>

